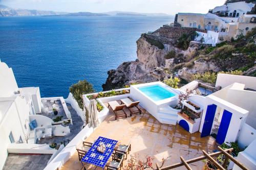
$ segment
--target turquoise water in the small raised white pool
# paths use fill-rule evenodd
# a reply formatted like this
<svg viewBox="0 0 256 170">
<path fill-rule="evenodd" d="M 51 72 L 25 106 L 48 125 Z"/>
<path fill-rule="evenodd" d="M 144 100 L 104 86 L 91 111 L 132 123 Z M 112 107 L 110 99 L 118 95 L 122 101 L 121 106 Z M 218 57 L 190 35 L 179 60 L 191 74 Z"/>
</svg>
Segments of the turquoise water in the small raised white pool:
<svg viewBox="0 0 256 170">
<path fill-rule="evenodd" d="M 172 98 L 175 96 L 174 93 L 166 90 L 160 85 L 140 87 L 139 90 L 146 94 L 153 101 L 157 102 L 163 99 Z"/>
</svg>

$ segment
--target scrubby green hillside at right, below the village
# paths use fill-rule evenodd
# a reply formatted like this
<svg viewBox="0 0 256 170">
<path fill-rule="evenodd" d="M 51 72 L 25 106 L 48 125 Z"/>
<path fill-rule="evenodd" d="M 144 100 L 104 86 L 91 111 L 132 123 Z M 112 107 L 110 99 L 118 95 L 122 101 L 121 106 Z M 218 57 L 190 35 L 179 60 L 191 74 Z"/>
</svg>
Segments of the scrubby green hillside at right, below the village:
<svg viewBox="0 0 256 170">
<path fill-rule="evenodd" d="M 167 59 L 174 58 L 174 61 L 182 61 L 175 63 L 172 68 L 174 72 L 179 71 L 183 67 L 190 70 L 195 69 L 195 62 L 214 64 L 219 71 L 224 71 L 229 74 L 239 74 L 245 76 L 256 77 L 256 28 L 248 32 L 246 36 L 239 36 L 237 40 L 224 41 L 217 44 L 216 47 L 200 46 L 199 49 L 190 58 L 183 58 L 180 55 L 170 52 L 165 56 Z M 205 70 L 207 72 L 209 70 Z M 218 72 L 219 72 L 218 71 Z M 200 75 L 194 75 L 193 79 L 206 79 L 209 77 L 211 83 L 218 72 L 209 71 L 204 78 Z M 212 74 L 212 75 L 210 75 Z"/>
</svg>

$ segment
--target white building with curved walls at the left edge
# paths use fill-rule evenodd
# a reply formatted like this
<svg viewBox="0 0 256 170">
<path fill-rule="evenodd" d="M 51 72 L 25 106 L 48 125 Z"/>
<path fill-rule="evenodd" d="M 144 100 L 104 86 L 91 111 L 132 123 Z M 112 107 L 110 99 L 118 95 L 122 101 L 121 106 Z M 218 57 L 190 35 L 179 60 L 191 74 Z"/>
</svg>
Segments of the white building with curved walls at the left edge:
<svg viewBox="0 0 256 170">
<path fill-rule="evenodd" d="M 36 141 L 43 135 L 65 136 L 70 133 L 70 129 L 68 126 L 54 125 L 49 117 L 37 115 L 42 108 L 39 87 L 18 88 L 12 68 L 1 60 L 0 82 L 0 169 L 8 153 L 55 153 L 55 149 L 46 144 L 36 144 Z M 37 127 L 31 129 L 33 120 Z"/>
</svg>

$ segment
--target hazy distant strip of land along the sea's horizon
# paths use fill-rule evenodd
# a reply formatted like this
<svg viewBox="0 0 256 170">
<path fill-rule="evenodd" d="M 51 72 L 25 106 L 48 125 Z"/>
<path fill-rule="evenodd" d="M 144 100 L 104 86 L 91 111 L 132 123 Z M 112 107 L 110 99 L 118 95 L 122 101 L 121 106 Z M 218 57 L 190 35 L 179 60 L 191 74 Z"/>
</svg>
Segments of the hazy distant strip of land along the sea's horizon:
<svg viewBox="0 0 256 170">
<path fill-rule="evenodd" d="M 111 11 L 103 13 L 93 12 L 54 12 L 54 11 L 39 11 L 28 9 L 14 9 L 4 5 L 0 5 L 0 16 L 168 16 L 164 13 L 137 13 L 137 12 L 123 12 Z"/>
</svg>

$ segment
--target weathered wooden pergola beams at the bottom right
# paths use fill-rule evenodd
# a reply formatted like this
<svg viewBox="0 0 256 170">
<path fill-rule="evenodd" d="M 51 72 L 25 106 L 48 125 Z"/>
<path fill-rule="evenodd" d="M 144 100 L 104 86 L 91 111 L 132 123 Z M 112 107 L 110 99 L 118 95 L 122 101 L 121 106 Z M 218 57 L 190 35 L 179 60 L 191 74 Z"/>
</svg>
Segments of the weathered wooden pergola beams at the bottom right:
<svg viewBox="0 0 256 170">
<path fill-rule="evenodd" d="M 189 159 L 189 160 L 185 160 L 182 156 L 180 156 L 181 162 L 170 165 L 170 166 L 166 166 L 162 168 L 160 168 L 158 164 L 156 164 L 156 166 L 158 170 L 168 170 L 168 169 L 173 169 L 180 166 L 185 166 L 188 170 L 192 170 L 192 168 L 189 166 L 189 163 L 194 163 L 194 162 L 202 161 L 204 159 L 208 159 L 212 164 L 214 164 L 220 170 L 226 169 L 225 167 L 227 166 L 228 160 L 233 161 L 243 170 L 249 170 L 245 165 L 243 165 L 238 160 L 234 159 L 232 155 L 230 155 L 230 153 L 233 151 L 233 148 L 223 150 L 221 147 L 218 147 L 218 149 L 220 150 L 219 152 L 215 152 L 211 154 L 208 154 L 203 150 L 204 156 L 200 156 L 200 157 Z M 221 165 L 213 157 L 218 157 L 219 155 L 222 155 L 222 154 L 225 155 L 225 160 L 224 160 L 224 163 Z"/>
</svg>

